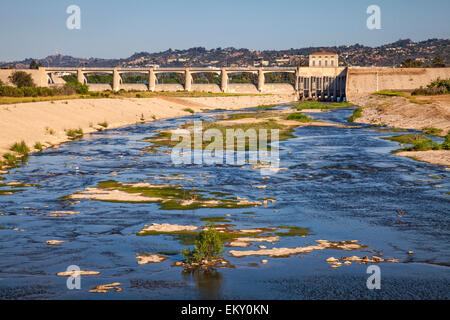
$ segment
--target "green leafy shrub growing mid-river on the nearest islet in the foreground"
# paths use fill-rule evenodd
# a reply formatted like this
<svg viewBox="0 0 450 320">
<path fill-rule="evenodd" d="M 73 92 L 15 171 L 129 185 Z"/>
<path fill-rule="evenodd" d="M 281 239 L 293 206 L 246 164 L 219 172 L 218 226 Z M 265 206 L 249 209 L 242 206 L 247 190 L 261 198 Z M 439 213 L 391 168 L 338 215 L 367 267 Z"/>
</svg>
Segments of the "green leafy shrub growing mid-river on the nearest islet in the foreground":
<svg viewBox="0 0 450 320">
<path fill-rule="evenodd" d="M 199 233 L 195 241 L 194 250 L 184 249 L 182 256 L 189 264 L 201 263 L 203 260 L 212 261 L 220 258 L 223 253 L 223 243 L 214 224 L 207 223 L 206 230 Z"/>
</svg>

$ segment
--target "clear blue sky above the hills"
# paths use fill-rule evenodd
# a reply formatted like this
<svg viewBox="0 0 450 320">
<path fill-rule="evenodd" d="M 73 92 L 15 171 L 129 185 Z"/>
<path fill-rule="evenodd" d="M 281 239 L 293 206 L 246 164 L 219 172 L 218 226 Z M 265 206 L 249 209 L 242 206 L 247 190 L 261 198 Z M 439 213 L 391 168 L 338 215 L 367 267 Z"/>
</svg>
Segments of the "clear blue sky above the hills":
<svg viewBox="0 0 450 320">
<path fill-rule="evenodd" d="M 66 28 L 71 4 L 81 8 L 81 30 Z M 381 7 L 381 30 L 366 28 L 372 4 Z M 197 46 L 378 46 L 450 38 L 448 12 L 449 0 L 0 0 L 0 61 L 56 52 L 123 58 Z"/>
</svg>

